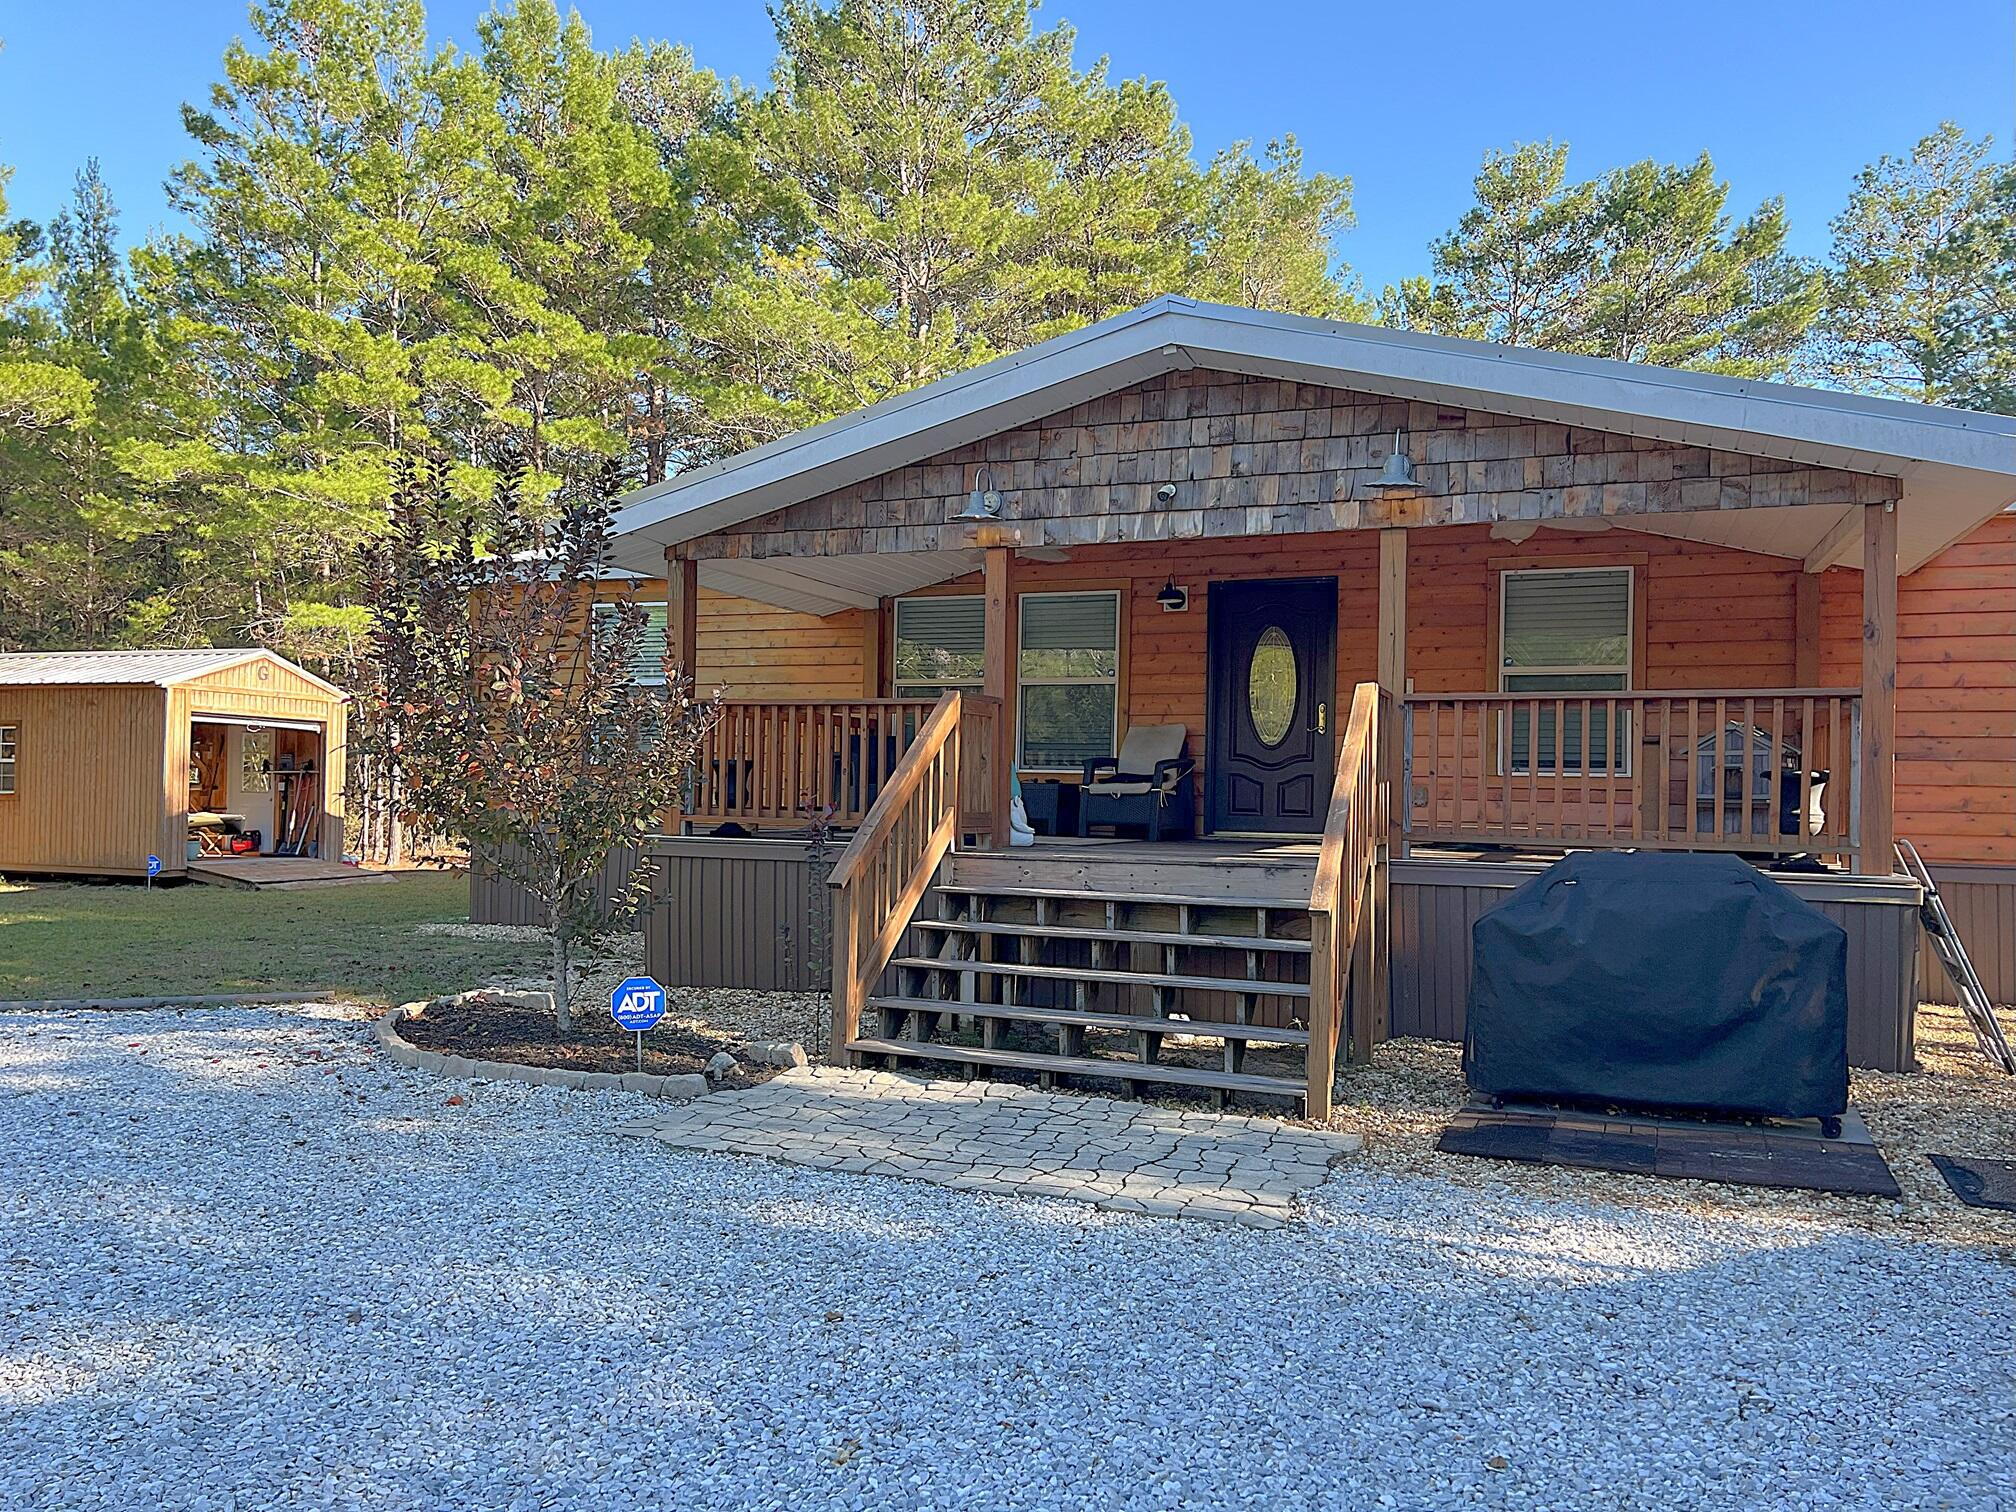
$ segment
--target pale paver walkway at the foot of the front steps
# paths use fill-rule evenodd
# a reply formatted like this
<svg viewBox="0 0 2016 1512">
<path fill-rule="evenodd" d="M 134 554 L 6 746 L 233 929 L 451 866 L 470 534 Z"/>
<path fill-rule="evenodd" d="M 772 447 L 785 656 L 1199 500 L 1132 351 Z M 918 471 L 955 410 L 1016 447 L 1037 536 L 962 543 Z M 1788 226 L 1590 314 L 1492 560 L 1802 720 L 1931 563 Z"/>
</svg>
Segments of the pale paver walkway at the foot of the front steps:
<svg viewBox="0 0 2016 1512">
<path fill-rule="evenodd" d="M 1296 1198 L 1363 1145 L 1357 1135 L 1274 1119 L 837 1066 L 700 1097 L 619 1133 L 823 1171 L 1252 1228 L 1290 1222 Z"/>
</svg>

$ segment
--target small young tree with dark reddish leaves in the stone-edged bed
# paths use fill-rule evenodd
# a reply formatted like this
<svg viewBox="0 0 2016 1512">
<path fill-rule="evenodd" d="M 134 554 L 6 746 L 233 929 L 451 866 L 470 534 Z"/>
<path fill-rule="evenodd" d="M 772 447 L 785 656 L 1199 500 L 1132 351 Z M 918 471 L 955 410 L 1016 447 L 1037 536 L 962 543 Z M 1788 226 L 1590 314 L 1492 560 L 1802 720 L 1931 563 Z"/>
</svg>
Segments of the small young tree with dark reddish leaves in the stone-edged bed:
<svg viewBox="0 0 2016 1512">
<path fill-rule="evenodd" d="M 397 772 L 409 825 L 460 835 L 538 899 L 564 1034 L 575 950 L 607 927 L 595 877 L 677 806 L 716 706 L 683 667 L 631 681 L 647 617 L 609 571 L 607 474 L 556 512 L 530 478 L 504 472 L 472 508 L 444 468 L 409 464 L 371 552 L 377 677 L 351 740 Z"/>
</svg>

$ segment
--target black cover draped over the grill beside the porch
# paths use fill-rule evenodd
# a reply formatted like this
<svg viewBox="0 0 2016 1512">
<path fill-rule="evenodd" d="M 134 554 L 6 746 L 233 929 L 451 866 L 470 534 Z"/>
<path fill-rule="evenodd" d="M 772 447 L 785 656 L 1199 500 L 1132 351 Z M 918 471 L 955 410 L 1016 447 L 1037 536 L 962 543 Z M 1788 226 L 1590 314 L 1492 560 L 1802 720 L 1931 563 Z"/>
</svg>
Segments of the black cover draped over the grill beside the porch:
<svg viewBox="0 0 2016 1512">
<path fill-rule="evenodd" d="M 1849 1105 L 1849 937 L 1728 855 L 1585 851 L 1472 925 L 1492 1097 L 1810 1119 Z"/>
</svg>

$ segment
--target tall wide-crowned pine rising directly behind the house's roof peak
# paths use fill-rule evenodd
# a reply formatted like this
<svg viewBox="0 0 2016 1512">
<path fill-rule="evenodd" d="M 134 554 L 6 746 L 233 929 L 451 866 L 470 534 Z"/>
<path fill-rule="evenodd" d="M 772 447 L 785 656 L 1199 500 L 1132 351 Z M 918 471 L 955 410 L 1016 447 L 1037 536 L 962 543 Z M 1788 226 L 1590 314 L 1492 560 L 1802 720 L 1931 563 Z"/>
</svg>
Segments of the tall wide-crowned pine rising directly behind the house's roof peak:
<svg viewBox="0 0 2016 1512">
<path fill-rule="evenodd" d="M 683 312 L 702 454 L 738 452 L 1163 292 L 1349 308 L 1349 185 L 1292 143 L 1200 171 L 1161 85 L 1081 71 L 1028 0 L 784 0 L 710 145 L 752 254 Z"/>
</svg>

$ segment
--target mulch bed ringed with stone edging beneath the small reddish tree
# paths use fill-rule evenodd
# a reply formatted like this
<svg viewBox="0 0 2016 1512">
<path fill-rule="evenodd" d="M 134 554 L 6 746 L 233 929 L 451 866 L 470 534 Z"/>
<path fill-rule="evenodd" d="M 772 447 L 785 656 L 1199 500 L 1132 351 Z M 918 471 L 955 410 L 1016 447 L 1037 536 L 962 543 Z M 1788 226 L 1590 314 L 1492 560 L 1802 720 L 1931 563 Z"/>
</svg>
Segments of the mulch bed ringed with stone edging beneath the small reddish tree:
<svg viewBox="0 0 2016 1512">
<path fill-rule="evenodd" d="M 607 1014 L 583 1006 L 575 1014 L 575 1030 L 560 1038 L 552 1014 L 538 1008 L 518 1008 L 498 1002 L 437 1002 L 417 1018 L 399 1020 L 399 1034 L 409 1044 L 444 1054 L 466 1054 L 470 1060 L 510 1060 L 520 1066 L 558 1066 L 562 1070 L 637 1070 L 637 1036 L 617 1028 Z M 643 1068 L 653 1077 L 675 1077 L 708 1068 L 736 1040 L 698 1034 L 683 1024 L 659 1024 L 645 1030 Z M 774 1066 L 744 1064 L 720 1087 L 754 1087 L 770 1081 Z"/>
</svg>

